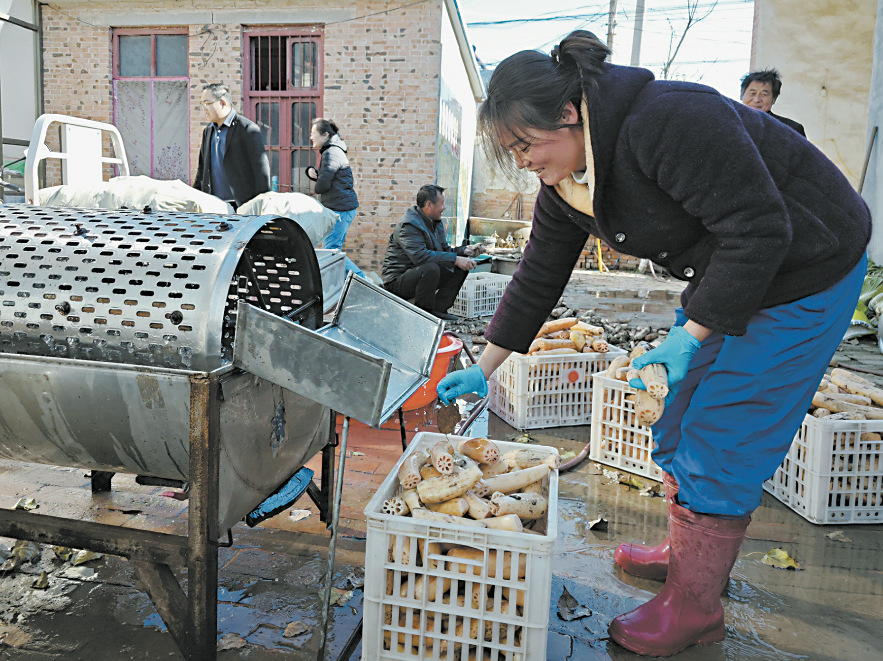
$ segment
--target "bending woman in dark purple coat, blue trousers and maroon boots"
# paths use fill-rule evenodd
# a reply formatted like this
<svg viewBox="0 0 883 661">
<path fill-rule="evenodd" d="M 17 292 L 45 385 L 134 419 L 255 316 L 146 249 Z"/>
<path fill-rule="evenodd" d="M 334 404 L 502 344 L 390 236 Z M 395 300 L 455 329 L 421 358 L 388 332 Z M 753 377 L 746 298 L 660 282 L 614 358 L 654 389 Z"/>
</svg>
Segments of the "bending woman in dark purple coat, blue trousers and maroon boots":
<svg viewBox="0 0 883 661">
<path fill-rule="evenodd" d="M 577 31 L 551 56 L 523 51 L 494 71 L 479 111 L 488 149 L 536 173 L 540 193 L 479 365 L 438 392 L 487 393 L 509 353 L 528 349 L 590 234 L 689 283 L 665 342 L 633 361 L 668 370 L 653 459 L 669 538 L 615 554 L 666 583 L 609 629 L 665 657 L 725 636 L 721 590 L 849 326 L 871 217 L 834 164 L 773 117 L 608 53 Z"/>
</svg>

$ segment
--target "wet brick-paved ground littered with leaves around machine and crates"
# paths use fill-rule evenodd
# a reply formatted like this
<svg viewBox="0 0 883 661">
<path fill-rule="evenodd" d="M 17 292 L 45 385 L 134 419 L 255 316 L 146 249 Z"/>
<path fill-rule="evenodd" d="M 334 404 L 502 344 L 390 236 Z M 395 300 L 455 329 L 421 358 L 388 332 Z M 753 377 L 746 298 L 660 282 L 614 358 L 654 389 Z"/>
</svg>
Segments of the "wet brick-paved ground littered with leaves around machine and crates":
<svg viewBox="0 0 883 661">
<path fill-rule="evenodd" d="M 615 276 L 604 276 L 615 277 Z M 653 281 L 649 276 L 644 280 Z M 618 287 L 615 281 L 611 287 Z M 592 305 L 571 301 L 568 304 Z M 676 283 L 675 283 L 676 284 Z M 623 291 L 637 288 L 623 287 Z M 589 296 L 579 294 L 573 295 Z M 659 297 L 659 294 L 654 296 Z M 596 297 L 597 298 L 597 297 Z M 604 298 L 604 297 L 601 297 Z M 616 298 L 616 297 L 613 297 Z M 668 315 L 671 308 L 661 312 Z M 666 295 L 668 300 L 668 295 Z M 670 305 L 670 304 L 669 304 Z M 596 309 L 599 309 L 595 305 Z M 620 311 L 623 312 L 623 311 Z M 654 312 L 656 313 L 656 312 Z M 661 317 L 660 317 L 661 318 Z M 651 324 L 647 324 L 651 325 Z M 883 367 L 870 341 L 842 345 L 844 363 Z M 879 361 L 877 366 L 874 361 Z M 872 377 L 883 383 L 883 378 Z M 409 439 L 417 431 L 435 431 L 432 414 L 415 412 L 406 420 Z M 485 414 L 471 435 L 505 439 L 516 432 L 494 414 Z M 534 430 L 543 445 L 579 451 L 589 442 L 589 426 Z M 401 454 L 398 430 L 376 431 L 355 426 L 348 453 L 335 585 L 354 588 L 353 597 L 334 608 L 329 656 L 336 657 L 361 616 L 358 588 L 365 565 L 362 509 Z M 308 464 L 319 475 L 318 457 Z M 0 461 L 0 507 L 33 496 L 38 514 L 71 516 L 148 530 L 184 534 L 186 503 L 161 495 L 162 488 L 143 487 L 131 476 L 114 478 L 115 491 L 91 494 L 82 469 L 58 469 Z M 665 501 L 646 498 L 624 484 L 611 484 L 599 466 L 586 461 L 562 475 L 555 543 L 553 586 L 549 605 L 547 658 L 637 659 L 607 640 L 609 620 L 653 597 L 661 583 L 631 577 L 615 567 L 613 553 L 622 542 L 657 544 L 667 534 Z M 323 581 L 328 533 L 306 496 L 292 510 L 311 515 L 293 521 L 291 510 L 263 526 L 239 524 L 235 544 L 221 550 L 219 562 L 218 636 L 227 635 L 234 649 L 219 659 L 315 658 L 321 618 L 319 590 Z M 608 530 L 587 530 L 603 515 Z M 841 530 L 841 539 L 826 537 Z M 0 548 L 13 540 L 0 538 Z M 760 562 L 780 547 L 802 571 L 786 571 Z M 864 661 L 883 658 L 883 525 L 818 526 L 806 522 L 769 494 L 753 516 L 740 558 L 723 598 L 727 613 L 725 642 L 683 652 L 684 661 L 749 661 L 805 658 L 813 661 Z M 31 585 L 42 570 L 50 572 L 49 589 Z M 186 587 L 185 572 L 180 573 Z M 592 611 L 582 620 L 564 622 L 556 603 L 566 586 Z M 283 627 L 301 620 L 304 635 L 283 637 Z M 360 649 L 353 658 L 360 656 Z M 26 661 L 117 661 L 117 659 L 182 659 L 162 620 L 125 560 L 105 556 L 80 567 L 54 559 L 42 547 L 40 560 L 0 575 L 0 659 Z M 532 661 L 532 660 L 531 660 Z"/>
</svg>

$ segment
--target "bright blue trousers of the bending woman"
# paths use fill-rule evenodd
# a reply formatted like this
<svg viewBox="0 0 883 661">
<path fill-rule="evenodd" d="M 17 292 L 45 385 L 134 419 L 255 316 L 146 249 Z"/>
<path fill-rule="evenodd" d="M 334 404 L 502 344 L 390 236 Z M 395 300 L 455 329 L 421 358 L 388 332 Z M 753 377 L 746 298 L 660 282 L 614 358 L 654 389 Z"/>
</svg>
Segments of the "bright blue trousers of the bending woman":
<svg viewBox="0 0 883 661">
<path fill-rule="evenodd" d="M 710 334 L 653 425 L 653 461 L 692 512 L 750 515 L 791 447 L 849 327 L 867 258 L 830 289 L 757 312 L 748 331 Z M 677 311 L 676 326 L 686 323 Z"/>
</svg>

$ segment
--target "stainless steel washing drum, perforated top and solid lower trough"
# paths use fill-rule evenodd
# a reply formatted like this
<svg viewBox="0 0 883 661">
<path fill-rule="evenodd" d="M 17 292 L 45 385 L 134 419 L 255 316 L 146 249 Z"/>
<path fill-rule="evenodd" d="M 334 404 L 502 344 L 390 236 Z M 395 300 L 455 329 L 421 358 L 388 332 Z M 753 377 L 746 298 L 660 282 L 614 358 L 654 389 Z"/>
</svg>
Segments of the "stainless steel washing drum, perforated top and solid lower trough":
<svg viewBox="0 0 883 661">
<path fill-rule="evenodd" d="M 0 207 L 0 456 L 186 481 L 192 379 L 219 372 L 229 528 L 330 424 L 328 408 L 230 364 L 239 298 L 321 324 L 297 223 Z"/>
</svg>

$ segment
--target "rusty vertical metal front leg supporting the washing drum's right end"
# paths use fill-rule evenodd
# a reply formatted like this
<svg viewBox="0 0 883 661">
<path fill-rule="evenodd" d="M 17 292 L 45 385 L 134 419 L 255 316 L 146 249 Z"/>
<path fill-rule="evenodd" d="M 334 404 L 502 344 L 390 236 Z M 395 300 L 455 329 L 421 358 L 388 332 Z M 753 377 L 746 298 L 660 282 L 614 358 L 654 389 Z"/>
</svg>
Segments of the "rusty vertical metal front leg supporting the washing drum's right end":
<svg viewBox="0 0 883 661">
<path fill-rule="evenodd" d="M 191 379 L 188 661 L 215 661 L 216 657 L 220 410 L 217 379 Z"/>
</svg>

